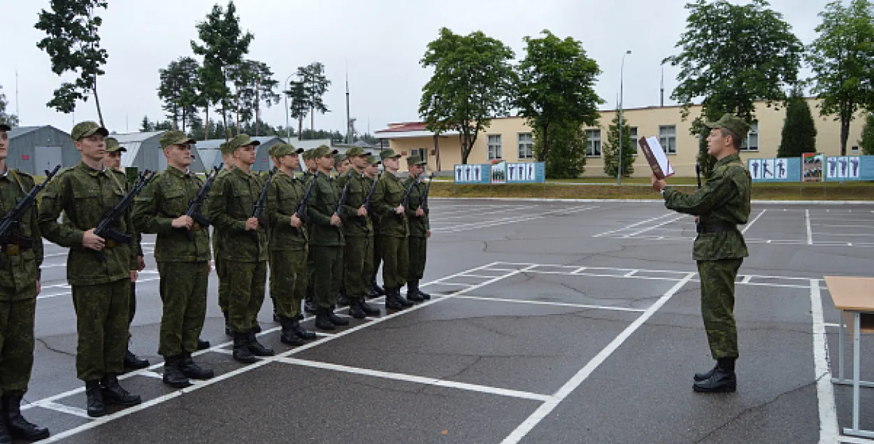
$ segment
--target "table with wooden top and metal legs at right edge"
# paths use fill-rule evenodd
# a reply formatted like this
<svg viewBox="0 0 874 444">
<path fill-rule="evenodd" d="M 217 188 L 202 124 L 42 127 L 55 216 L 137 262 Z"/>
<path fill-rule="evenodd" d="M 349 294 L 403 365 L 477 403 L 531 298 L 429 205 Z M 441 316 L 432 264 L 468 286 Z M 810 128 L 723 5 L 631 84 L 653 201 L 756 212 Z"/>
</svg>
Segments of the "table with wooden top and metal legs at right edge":
<svg viewBox="0 0 874 444">
<path fill-rule="evenodd" d="M 863 333 L 874 333 L 874 278 L 826 276 L 831 300 L 841 310 L 840 339 L 838 345 L 838 376 L 832 379 L 836 385 L 853 387 L 853 424 L 844 428 L 843 434 L 874 438 L 874 431 L 859 429 L 859 389 L 874 387 L 874 382 L 863 381 L 859 374 L 859 343 Z M 843 336 L 850 330 L 853 342 L 853 378 L 843 376 Z"/>
</svg>

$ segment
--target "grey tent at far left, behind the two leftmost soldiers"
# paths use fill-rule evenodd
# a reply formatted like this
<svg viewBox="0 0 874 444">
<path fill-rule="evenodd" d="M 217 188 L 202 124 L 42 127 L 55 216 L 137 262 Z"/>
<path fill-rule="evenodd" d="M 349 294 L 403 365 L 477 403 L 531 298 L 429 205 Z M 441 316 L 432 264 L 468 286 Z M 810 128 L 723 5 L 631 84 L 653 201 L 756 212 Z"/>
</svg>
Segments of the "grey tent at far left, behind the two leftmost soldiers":
<svg viewBox="0 0 874 444">
<path fill-rule="evenodd" d="M 11 168 L 44 175 L 56 165 L 61 168 L 79 163 L 80 154 L 70 135 L 52 126 L 19 127 L 9 132 L 9 155 L 6 162 Z"/>
</svg>

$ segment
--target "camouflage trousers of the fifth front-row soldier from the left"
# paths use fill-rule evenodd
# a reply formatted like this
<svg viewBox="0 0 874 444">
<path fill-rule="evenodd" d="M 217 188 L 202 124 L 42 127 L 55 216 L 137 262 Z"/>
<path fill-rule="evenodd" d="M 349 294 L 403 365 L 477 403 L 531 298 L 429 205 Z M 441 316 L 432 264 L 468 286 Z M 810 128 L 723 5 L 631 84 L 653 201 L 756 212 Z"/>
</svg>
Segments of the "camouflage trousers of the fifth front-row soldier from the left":
<svg viewBox="0 0 874 444">
<path fill-rule="evenodd" d="M 301 302 L 307 295 L 307 252 L 273 250 L 270 252 L 270 297 L 276 313 L 283 317 L 301 314 Z"/>
</svg>

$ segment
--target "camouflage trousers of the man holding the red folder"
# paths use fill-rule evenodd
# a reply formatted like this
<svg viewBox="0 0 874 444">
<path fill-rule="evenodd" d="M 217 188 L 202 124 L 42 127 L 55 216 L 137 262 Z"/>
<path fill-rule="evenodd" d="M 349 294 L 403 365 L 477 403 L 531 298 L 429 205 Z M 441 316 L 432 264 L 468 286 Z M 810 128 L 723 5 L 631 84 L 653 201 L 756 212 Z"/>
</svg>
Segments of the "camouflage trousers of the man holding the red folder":
<svg viewBox="0 0 874 444">
<path fill-rule="evenodd" d="M 743 261 L 698 260 L 701 316 L 714 359 L 739 356 L 738 327 L 734 322 L 734 281 Z"/>
</svg>

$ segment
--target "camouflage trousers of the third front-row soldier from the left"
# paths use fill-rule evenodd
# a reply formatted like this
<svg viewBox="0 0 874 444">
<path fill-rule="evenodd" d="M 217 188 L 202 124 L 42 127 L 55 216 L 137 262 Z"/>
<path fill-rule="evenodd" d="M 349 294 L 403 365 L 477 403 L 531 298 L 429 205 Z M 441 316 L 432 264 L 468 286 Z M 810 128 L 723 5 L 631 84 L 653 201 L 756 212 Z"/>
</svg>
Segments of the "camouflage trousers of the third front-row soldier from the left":
<svg viewBox="0 0 874 444">
<path fill-rule="evenodd" d="M 161 275 L 161 332 L 158 354 L 176 357 L 198 350 L 206 316 L 209 265 L 202 262 L 158 262 Z"/>
</svg>

